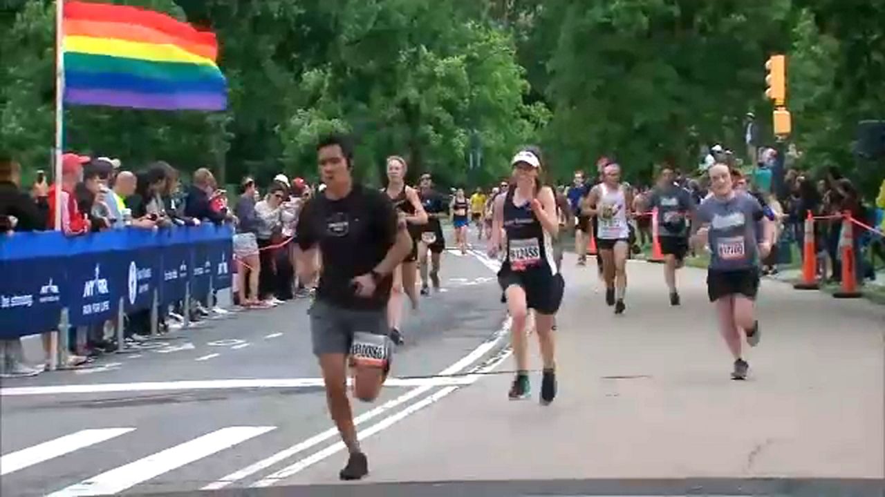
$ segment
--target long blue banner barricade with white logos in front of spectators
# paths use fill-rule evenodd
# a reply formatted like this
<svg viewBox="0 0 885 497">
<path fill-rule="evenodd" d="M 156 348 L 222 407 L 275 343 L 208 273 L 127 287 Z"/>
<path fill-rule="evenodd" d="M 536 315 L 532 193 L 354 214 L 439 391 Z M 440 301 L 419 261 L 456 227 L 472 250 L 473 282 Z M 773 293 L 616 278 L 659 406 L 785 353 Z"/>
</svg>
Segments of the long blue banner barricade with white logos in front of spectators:
<svg viewBox="0 0 885 497">
<path fill-rule="evenodd" d="M 0 235 L 0 339 L 49 331 L 68 309 L 71 325 L 101 323 L 231 286 L 231 226 L 204 224 L 157 232 L 112 230 Z"/>
</svg>

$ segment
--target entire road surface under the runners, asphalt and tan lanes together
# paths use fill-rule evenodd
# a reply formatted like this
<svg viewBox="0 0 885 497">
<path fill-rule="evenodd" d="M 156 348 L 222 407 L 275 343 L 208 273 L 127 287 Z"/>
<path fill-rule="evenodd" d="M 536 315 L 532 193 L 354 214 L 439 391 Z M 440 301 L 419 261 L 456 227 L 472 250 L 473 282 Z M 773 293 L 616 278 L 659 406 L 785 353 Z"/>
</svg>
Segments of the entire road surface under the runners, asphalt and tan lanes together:
<svg viewBox="0 0 885 497">
<path fill-rule="evenodd" d="M 681 272 L 671 308 L 661 266 L 629 264 L 615 317 L 593 264 L 565 264 L 550 407 L 536 375 L 532 401 L 506 400 L 495 264 L 447 254 L 448 291 L 410 318 L 396 378 L 375 405 L 355 404 L 365 482 L 335 479 L 345 455 L 306 302 L 293 302 L 176 333 L 169 352 L 113 368 L 4 381 L 0 494 L 881 495 L 883 308 L 766 281 L 763 341 L 739 383 L 703 271 Z M 476 370 L 490 374 L 435 377 Z"/>
</svg>

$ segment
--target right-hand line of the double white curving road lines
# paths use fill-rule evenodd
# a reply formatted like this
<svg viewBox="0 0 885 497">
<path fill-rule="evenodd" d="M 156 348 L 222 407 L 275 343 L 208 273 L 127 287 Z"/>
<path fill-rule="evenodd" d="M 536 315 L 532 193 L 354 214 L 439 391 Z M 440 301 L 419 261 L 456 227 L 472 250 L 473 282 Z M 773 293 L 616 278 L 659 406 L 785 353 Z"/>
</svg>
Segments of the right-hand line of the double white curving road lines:
<svg viewBox="0 0 885 497">
<path fill-rule="evenodd" d="M 480 368 L 477 371 L 477 373 L 493 371 L 499 364 L 503 363 L 507 359 L 507 357 L 509 357 L 510 355 L 511 355 L 511 351 L 509 349 L 504 351 L 504 353 L 501 354 L 500 356 L 496 357 L 496 359 L 493 362 Z M 470 383 L 473 383 L 477 379 L 481 378 L 481 374 L 473 374 L 473 375 L 469 376 L 468 378 L 471 379 Z M 467 385 L 469 385 L 469 383 Z M 360 430 L 357 434 L 358 440 L 366 440 L 368 437 L 371 437 L 373 434 L 375 434 L 377 432 L 381 432 L 382 430 L 388 429 L 390 426 L 392 426 L 393 424 L 396 424 L 399 421 L 402 421 L 404 418 L 412 416 L 412 414 L 418 412 L 420 409 L 424 409 L 427 406 L 433 404 L 434 402 L 440 401 L 446 395 L 449 395 L 452 392 L 458 390 L 458 388 L 459 388 L 459 386 L 446 386 L 445 388 L 437 390 L 435 392 L 435 394 L 429 395 L 429 396 L 425 397 L 424 399 L 417 401 L 417 402 L 413 403 L 412 405 L 406 407 L 405 409 L 403 409 L 399 412 L 396 412 L 396 414 L 392 414 L 389 417 L 385 417 L 384 419 L 381 419 L 381 421 L 379 421 L 376 424 L 373 424 L 372 426 L 369 426 L 365 430 Z M 315 452 L 314 454 L 309 455 L 309 456 L 305 457 L 304 459 L 297 461 L 296 463 L 291 464 L 291 465 L 287 466 L 286 468 L 283 468 L 282 470 L 279 470 L 279 471 L 273 473 L 272 475 L 268 476 L 267 478 L 263 478 L 263 479 L 258 480 L 258 482 L 253 484 L 252 487 L 258 488 L 258 487 L 273 486 L 274 484 L 280 482 L 280 480 L 285 479 L 285 478 L 289 478 L 289 477 L 295 475 L 296 473 L 307 469 L 308 467 L 312 466 L 313 464 L 319 463 L 323 459 L 326 459 L 330 455 L 334 455 L 336 452 L 339 452 L 343 449 L 344 449 L 343 442 L 341 442 L 341 441 L 335 442 L 331 446 L 326 447 L 326 448 L 320 450 L 319 452 Z"/>
</svg>

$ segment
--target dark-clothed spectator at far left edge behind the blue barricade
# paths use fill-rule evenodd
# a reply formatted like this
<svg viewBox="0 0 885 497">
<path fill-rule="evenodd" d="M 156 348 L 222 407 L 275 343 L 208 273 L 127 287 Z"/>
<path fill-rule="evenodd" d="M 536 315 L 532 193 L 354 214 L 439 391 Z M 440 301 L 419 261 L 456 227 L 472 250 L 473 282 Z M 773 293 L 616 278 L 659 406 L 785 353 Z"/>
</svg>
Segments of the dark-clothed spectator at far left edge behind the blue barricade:
<svg viewBox="0 0 885 497">
<path fill-rule="evenodd" d="M 37 231 L 45 226 L 44 214 L 35 199 L 20 190 L 20 184 L 21 166 L 9 157 L 0 157 L 0 240 L 9 236 L 7 232 Z M 20 338 L 0 340 L 0 378 L 39 373 L 24 363 Z"/>
</svg>

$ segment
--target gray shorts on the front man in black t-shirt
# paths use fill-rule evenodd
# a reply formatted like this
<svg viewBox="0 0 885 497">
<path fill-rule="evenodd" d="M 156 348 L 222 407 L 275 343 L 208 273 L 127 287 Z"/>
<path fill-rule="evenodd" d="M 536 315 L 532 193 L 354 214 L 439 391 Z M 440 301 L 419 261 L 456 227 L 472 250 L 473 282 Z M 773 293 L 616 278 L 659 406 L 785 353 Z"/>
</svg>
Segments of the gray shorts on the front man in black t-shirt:
<svg viewBox="0 0 885 497">
<path fill-rule="evenodd" d="M 315 301 L 307 311 L 311 317 L 313 354 L 350 354 L 353 333 L 389 334 L 387 310 L 350 310 Z"/>
</svg>

